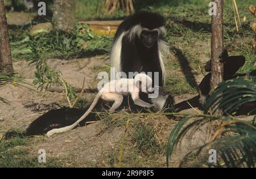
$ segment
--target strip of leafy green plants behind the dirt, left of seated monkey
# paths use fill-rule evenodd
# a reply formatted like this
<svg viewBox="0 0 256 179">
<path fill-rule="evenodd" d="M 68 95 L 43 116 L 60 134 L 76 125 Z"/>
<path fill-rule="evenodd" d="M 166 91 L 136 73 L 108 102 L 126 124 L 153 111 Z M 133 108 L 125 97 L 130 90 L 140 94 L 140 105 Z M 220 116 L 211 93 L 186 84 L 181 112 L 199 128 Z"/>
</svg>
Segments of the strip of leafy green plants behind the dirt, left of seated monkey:
<svg viewBox="0 0 256 179">
<path fill-rule="evenodd" d="M 106 35 L 95 35 L 85 24 L 77 25 L 70 34 L 51 30 L 31 36 L 26 28 L 23 31 L 12 28 L 9 33 L 14 61 L 23 59 L 31 52 L 31 43 L 46 58 L 67 59 L 108 54 L 113 40 L 113 37 Z"/>
</svg>

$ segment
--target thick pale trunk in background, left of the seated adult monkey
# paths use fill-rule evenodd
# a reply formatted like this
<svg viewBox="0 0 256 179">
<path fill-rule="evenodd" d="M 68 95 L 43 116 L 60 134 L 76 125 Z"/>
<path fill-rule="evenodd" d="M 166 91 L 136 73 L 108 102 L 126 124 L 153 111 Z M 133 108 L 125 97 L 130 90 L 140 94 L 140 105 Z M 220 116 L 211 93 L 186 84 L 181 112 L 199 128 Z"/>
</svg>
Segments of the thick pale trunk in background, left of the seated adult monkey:
<svg viewBox="0 0 256 179">
<path fill-rule="evenodd" d="M 54 0 L 53 3 L 54 28 L 70 33 L 76 27 L 75 0 Z"/>
</svg>

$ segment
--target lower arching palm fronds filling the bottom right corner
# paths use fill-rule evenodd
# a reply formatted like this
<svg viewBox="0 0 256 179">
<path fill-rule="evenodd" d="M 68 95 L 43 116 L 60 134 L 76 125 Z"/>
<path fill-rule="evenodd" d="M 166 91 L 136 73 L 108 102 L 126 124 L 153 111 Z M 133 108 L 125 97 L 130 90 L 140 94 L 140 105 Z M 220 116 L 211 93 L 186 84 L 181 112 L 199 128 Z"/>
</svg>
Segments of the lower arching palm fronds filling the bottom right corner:
<svg viewBox="0 0 256 179">
<path fill-rule="evenodd" d="M 200 126 L 210 121 L 225 121 L 216 131 L 213 140 L 187 154 L 180 163 L 180 167 L 189 157 L 199 157 L 195 167 L 255 167 L 256 164 L 256 127 L 250 122 L 230 117 L 204 116 L 192 121 L 193 117 L 183 118 L 171 131 L 167 144 L 167 165 L 169 159 L 185 135 L 193 135 Z M 189 124 L 188 124 L 189 122 Z M 189 133 L 188 133 L 189 132 Z M 190 133 L 191 132 L 191 133 Z M 217 136 L 222 135 L 220 139 Z M 224 137 L 225 136 L 225 137 Z M 213 148 L 217 151 L 217 163 L 210 164 L 208 156 L 200 157 L 205 151 Z"/>
</svg>

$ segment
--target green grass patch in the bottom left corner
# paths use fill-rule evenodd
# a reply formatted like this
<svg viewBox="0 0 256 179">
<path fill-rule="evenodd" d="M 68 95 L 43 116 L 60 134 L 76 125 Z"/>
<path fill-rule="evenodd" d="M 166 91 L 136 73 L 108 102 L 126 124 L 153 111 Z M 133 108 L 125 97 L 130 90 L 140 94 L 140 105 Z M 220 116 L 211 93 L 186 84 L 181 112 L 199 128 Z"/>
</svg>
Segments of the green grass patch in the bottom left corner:
<svg viewBox="0 0 256 179">
<path fill-rule="evenodd" d="M 60 160 L 52 157 L 47 157 L 46 163 L 40 164 L 38 158 L 27 150 L 31 140 L 23 137 L 23 132 L 20 130 L 13 132 L 17 135 L 0 142 L 0 168 L 64 167 Z"/>
</svg>

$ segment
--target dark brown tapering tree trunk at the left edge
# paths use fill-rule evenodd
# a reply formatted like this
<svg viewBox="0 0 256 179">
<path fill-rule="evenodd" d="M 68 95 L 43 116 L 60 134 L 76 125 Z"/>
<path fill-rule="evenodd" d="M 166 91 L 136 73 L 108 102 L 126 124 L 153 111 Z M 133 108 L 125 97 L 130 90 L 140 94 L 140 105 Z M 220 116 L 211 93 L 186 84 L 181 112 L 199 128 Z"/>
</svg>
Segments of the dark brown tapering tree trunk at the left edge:
<svg viewBox="0 0 256 179">
<path fill-rule="evenodd" d="M 7 73 L 14 72 L 3 0 L 0 0 L 0 72 L 1 71 Z"/>
</svg>

